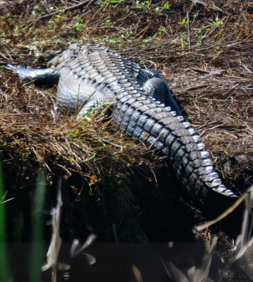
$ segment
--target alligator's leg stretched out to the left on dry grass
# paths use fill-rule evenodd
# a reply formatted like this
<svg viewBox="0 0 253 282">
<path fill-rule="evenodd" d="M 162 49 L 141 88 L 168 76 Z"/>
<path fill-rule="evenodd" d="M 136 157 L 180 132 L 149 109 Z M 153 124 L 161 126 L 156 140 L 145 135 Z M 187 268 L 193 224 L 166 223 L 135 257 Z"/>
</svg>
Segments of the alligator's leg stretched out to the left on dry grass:
<svg viewBox="0 0 253 282">
<path fill-rule="evenodd" d="M 42 68 L 42 69 L 30 69 L 22 68 L 21 66 L 7 65 L 8 70 L 16 73 L 22 80 L 45 80 L 47 82 L 58 82 L 59 72 L 57 68 Z"/>
</svg>

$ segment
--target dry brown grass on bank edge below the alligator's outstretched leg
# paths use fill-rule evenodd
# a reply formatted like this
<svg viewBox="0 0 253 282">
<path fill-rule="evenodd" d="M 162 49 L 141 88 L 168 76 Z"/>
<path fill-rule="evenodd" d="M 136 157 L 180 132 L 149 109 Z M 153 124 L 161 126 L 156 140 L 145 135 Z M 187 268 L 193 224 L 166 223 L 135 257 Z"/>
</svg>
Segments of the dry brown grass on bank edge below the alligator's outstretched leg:
<svg viewBox="0 0 253 282">
<path fill-rule="evenodd" d="M 3 71 L 0 78 L 4 80 L 0 147 L 5 163 L 42 164 L 49 173 L 58 167 L 66 177 L 76 171 L 90 178 L 91 184 L 101 167 L 104 173 L 124 176 L 131 164 L 143 163 L 144 147 L 112 130 L 102 115 L 77 122 L 54 111 L 51 90 L 20 85 L 9 71 Z M 153 166 L 149 161 L 146 164 Z"/>
</svg>

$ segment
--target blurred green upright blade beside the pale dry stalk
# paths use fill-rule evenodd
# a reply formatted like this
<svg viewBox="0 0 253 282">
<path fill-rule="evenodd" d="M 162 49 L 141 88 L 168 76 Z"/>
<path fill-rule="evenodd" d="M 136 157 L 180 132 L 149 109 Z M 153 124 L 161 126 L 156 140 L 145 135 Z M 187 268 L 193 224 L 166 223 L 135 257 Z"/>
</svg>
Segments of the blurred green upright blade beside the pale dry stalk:
<svg viewBox="0 0 253 282">
<path fill-rule="evenodd" d="M 33 237 L 30 257 L 30 281 L 41 281 L 41 266 L 43 254 L 43 204 L 46 188 L 45 171 L 40 171 L 35 189 L 35 203 L 33 209 Z"/>
</svg>

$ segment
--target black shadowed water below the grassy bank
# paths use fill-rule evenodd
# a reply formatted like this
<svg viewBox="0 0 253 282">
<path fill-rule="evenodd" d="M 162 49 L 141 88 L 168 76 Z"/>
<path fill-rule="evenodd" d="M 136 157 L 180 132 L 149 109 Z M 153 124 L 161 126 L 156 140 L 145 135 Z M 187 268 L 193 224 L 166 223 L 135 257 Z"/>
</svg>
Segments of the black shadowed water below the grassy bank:
<svg viewBox="0 0 253 282">
<path fill-rule="evenodd" d="M 166 167 L 155 171 L 156 180 L 153 173 L 134 169 L 129 180 L 104 176 L 94 187 L 76 173 L 65 180 L 61 171 L 47 175 L 44 240 L 39 244 L 45 262 L 52 235 L 50 211 L 57 204 L 60 187 L 58 281 L 251 281 L 242 268 L 252 259 L 226 265 L 220 257 L 229 257 L 229 244 L 218 244 L 218 252 L 211 252 L 210 246 L 196 239 L 194 226 L 215 216 L 224 208 L 223 202 L 211 203 L 207 215 L 201 214 L 184 199 L 182 188 Z M 29 281 L 30 276 L 37 171 L 36 167 L 24 170 L 4 165 L 6 197 L 13 198 L 5 204 L 8 255 L 18 282 Z M 234 214 L 211 228 L 210 234 L 225 230 L 230 242 L 240 232 L 240 216 Z M 90 234 L 96 235 L 95 242 L 71 257 L 73 240 L 82 245 Z M 51 281 L 51 269 L 42 272 L 42 281 Z"/>
</svg>

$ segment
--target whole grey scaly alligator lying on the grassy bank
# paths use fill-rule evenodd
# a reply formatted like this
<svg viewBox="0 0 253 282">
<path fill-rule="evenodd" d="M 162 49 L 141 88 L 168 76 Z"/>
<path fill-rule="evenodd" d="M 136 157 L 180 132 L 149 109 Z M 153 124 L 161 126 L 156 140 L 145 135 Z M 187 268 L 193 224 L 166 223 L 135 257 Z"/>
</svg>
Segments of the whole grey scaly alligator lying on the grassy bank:
<svg viewBox="0 0 253 282">
<path fill-rule="evenodd" d="M 70 44 L 45 69 L 8 68 L 23 80 L 57 81 L 59 109 L 78 113 L 78 118 L 112 104 L 112 121 L 120 131 L 165 156 L 197 207 L 210 193 L 238 197 L 223 185 L 199 135 L 182 117 L 173 92 L 157 71 L 91 42 Z"/>
</svg>

